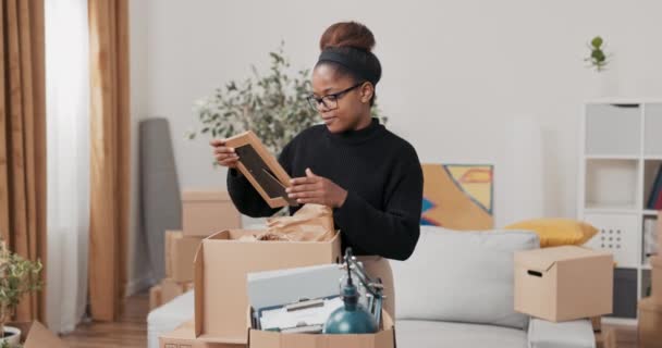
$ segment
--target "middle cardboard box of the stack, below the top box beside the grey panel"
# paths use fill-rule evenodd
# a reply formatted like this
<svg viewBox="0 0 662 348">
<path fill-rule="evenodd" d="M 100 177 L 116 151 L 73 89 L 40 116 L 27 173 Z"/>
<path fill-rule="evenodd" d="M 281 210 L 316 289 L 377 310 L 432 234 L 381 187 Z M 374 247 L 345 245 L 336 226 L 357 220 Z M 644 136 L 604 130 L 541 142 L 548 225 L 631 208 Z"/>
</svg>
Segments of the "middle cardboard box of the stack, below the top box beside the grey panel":
<svg viewBox="0 0 662 348">
<path fill-rule="evenodd" d="M 166 276 L 179 283 L 193 282 L 193 260 L 203 237 L 166 232 Z"/>
</svg>

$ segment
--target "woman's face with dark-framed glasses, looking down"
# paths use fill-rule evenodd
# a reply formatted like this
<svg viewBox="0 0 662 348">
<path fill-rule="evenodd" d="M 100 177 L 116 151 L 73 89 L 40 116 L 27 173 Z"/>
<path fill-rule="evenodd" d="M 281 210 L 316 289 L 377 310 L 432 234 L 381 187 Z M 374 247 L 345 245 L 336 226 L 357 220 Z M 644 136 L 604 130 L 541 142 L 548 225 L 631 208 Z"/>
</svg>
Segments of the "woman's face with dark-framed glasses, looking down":
<svg viewBox="0 0 662 348">
<path fill-rule="evenodd" d="M 364 83 L 357 86 L 351 76 L 340 74 L 328 64 L 318 65 L 312 71 L 312 94 L 323 98 L 324 103 L 317 103 L 317 111 L 322 116 L 331 133 L 357 130 L 370 124 L 370 98 L 372 85 Z M 356 87 L 355 87 L 356 86 Z M 334 98 L 334 94 L 347 90 Z M 335 99 L 335 102 L 333 102 Z"/>
</svg>

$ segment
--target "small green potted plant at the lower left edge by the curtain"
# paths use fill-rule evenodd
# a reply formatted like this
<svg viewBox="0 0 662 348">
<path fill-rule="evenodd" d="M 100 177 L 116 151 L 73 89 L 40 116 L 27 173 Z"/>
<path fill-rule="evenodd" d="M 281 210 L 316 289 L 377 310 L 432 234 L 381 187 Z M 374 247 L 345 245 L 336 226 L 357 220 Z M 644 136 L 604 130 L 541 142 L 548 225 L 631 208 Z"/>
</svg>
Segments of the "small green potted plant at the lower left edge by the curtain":
<svg viewBox="0 0 662 348">
<path fill-rule="evenodd" d="M 0 240 L 0 348 L 20 347 L 21 331 L 7 326 L 24 295 L 41 289 L 41 262 L 25 260 Z"/>
</svg>

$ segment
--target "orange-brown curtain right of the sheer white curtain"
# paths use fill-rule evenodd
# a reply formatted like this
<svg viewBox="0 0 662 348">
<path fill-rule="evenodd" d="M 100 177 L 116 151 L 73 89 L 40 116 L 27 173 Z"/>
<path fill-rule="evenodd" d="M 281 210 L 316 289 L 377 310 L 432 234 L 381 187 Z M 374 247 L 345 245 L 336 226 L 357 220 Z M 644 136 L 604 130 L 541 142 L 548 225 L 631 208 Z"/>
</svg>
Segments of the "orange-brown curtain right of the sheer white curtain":
<svg viewBox="0 0 662 348">
<path fill-rule="evenodd" d="M 126 0 L 88 0 L 90 52 L 91 316 L 117 320 L 126 285 L 130 213 L 128 9 Z"/>
</svg>

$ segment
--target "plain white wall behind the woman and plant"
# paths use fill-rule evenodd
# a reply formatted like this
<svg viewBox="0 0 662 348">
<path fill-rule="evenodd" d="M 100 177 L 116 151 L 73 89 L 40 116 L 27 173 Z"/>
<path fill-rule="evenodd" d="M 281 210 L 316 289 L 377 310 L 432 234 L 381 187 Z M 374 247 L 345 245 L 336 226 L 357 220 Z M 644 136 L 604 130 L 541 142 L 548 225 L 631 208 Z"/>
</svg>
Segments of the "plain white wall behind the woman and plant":
<svg viewBox="0 0 662 348">
<path fill-rule="evenodd" d="M 311 66 L 319 36 L 336 21 L 356 20 L 375 33 L 384 71 L 380 105 L 389 128 L 421 161 L 497 165 L 499 225 L 524 215 L 514 200 L 530 191 L 517 191 L 511 177 L 523 167 L 512 158 L 535 153 L 517 146 L 525 138 L 511 139 L 513 119 L 541 129 L 530 138 L 540 140 L 543 154 L 534 163 L 542 169 L 524 184 L 542 185 L 540 214 L 575 215 L 580 107 L 604 92 L 583 61 L 592 36 L 602 35 L 615 53 L 610 92 L 662 95 L 662 2 L 654 0 L 150 0 L 140 8 L 132 21 L 133 38 L 145 38 L 143 54 L 132 55 L 140 70 L 133 98 L 143 115 L 171 121 L 183 188 L 225 185 L 224 172 L 210 165 L 207 141 L 184 139 L 196 125 L 193 101 L 243 79 L 252 63 L 266 69 L 267 52 L 281 39 L 294 66 Z"/>
</svg>

